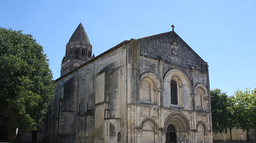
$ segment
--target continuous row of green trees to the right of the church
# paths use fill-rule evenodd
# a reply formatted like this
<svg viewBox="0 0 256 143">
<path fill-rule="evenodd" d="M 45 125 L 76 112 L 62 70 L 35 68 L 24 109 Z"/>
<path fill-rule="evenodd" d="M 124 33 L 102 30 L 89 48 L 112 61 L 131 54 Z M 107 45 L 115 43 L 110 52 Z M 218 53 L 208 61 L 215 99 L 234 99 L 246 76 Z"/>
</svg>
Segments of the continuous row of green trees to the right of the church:
<svg viewBox="0 0 256 143">
<path fill-rule="evenodd" d="M 229 97 L 216 88 L 210 91 L 210 98 L 214 133 L 230 130 L 232 135 L 234 127 L 247 132 L 256 128 L 256 88 L 238 90 Z"/>
</svg>

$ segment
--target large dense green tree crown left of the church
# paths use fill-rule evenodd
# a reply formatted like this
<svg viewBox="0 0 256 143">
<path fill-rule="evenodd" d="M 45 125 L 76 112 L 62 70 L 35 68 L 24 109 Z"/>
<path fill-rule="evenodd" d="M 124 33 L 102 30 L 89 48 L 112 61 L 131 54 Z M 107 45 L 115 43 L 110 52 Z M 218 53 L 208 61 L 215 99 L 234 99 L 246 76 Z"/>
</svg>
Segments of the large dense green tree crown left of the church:
<svg viewBox="0 0 256 143">
<path fill-rule="evenodd" d="M 36 130 L 53 91 L 43 47 L 21 30 L 0 28 L 0 124 Z"/>
</svg>

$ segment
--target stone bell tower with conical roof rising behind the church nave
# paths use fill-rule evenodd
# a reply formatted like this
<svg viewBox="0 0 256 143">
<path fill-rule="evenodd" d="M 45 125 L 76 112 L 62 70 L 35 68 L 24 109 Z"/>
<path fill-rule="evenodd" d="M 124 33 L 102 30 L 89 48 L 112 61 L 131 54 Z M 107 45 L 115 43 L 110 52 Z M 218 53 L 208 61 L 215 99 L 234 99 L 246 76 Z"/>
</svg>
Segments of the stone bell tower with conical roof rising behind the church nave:
<svg viewBox="0 0 256 143">
<path fill-rule="evenodd" d="M 82 23 L 78 25 L 66 45 L 65 57 L 61 62 L 60 76 L 67 74 L 92 57 L 92 45 Z"/>
</svg>

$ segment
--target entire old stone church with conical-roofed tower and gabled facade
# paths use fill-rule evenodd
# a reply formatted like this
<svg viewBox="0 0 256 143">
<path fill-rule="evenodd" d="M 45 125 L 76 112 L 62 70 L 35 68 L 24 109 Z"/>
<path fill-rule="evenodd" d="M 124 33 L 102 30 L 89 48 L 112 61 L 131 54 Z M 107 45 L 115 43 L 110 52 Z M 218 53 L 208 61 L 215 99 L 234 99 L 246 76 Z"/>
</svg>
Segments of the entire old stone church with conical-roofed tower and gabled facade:
<svg viewBox="0 0 256 143">
<path fill-rule="evenodd" d="M 213 142 L 208 64 L 174 25 L 95 57 L 80 23 L 60 74 L 45 142 Z"/>
</svg>

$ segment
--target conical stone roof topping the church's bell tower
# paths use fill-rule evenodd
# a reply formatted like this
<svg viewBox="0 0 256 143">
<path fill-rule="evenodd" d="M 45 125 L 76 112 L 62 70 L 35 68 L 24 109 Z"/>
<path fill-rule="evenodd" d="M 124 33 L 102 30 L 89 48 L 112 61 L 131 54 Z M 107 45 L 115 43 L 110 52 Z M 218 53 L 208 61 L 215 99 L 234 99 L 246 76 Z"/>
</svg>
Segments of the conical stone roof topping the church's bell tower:
<svg viewBox="0 0 256 143">
<path fill-rule="evenodd" d="M 71 36 L 69 42 L 87 42 L 90 44 L 90 40 L 85 32 L 85 28 L 83 28 L 82 23 L 78 25 L 78 28 L 76 28 L 75 32 Z"/>
</svg>

